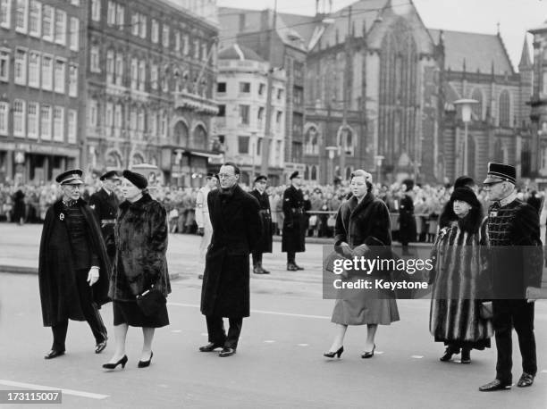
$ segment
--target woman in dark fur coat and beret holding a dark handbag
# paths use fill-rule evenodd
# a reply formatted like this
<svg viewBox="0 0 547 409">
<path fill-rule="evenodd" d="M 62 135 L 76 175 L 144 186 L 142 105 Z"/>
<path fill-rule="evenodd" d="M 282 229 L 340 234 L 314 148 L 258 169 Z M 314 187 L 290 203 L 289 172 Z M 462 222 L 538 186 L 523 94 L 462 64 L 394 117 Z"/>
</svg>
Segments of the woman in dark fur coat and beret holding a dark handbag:
<svg viewBox="0 0 547 409">
<path fill-rule="evenodd" d="M 150 288 L 164 297 L 171 293 L 167 271 L 167 214 L 165 208 L 147 192 L 147 179 L 139 173 L 123 171 L 122 194 L 115 225 L 116 256 L 110 280 L 109 296 L 114 305 L 114 337 L 116 350 L 103 365 L 114 369 L 125 367 L 125 338 L 129 327 L 141 327 L 144 337 L 139 368 L 152 360 L 152 339 L 156 328 L 169 325 L 166 305 L 146 315 L 139 309 L 136 296 Z"/>
</svg>

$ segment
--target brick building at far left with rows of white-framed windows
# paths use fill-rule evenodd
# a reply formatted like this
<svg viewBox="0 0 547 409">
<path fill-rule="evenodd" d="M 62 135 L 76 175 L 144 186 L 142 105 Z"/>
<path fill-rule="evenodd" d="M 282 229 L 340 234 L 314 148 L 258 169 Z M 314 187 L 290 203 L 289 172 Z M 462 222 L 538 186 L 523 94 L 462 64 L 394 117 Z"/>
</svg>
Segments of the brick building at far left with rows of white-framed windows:
<svg viewBox="0 0 547 409">
<path fill-rule="evenodd" d="M 80 166 L 83 1 L 0 0 L 0 180 L 41 183 Z"/>
</svg>

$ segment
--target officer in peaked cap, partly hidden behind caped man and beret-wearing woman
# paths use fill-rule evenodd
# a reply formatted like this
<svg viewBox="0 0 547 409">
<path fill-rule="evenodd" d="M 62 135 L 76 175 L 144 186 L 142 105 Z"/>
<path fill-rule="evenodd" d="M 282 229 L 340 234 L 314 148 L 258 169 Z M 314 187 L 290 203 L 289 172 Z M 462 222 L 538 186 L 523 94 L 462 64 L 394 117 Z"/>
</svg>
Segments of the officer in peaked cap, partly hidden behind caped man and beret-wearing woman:
<svg viewBox="0 0 547 409">
<path fill-rule="evenodd" d="M 105 239 L 106 253 L 110 257 L 110 263 L 114 262 L 116 245 L 114 243 L 114 224 L 120 200 L 114 193 L 116 186 L 120 183 L 120 176 L 117 171 L 107 171 L 99 178 L 102 187 L 89 197 L 89 207 L 95 211 L 97 222 L 101 226 L 103 238 Z"/>
</svg>

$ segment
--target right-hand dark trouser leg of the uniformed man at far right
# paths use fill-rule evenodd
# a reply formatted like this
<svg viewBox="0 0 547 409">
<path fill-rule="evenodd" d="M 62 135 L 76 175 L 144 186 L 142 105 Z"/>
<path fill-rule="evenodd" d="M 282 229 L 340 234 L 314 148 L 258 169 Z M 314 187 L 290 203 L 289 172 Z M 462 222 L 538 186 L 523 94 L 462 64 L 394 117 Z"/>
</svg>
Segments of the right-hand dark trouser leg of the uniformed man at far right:
<svg viewBox="0 0 547 409">
<path fill-rule="evenodd" d="M 534 303 L 514 300 L 513 325 L 518 335 L 518 346 L 522 356 L 522 370 L 530 375 L 537 372 L 534 337 Z"/>
</svg>

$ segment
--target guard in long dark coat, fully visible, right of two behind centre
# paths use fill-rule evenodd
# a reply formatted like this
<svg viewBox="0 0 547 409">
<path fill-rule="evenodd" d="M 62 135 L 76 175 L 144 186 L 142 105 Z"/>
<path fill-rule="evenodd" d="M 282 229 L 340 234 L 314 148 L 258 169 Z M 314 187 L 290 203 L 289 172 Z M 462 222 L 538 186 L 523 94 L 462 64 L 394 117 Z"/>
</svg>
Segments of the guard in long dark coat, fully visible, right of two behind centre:
<svg viewBox="0 0 547 409">
<path fill-rule="evenodd" d="M 298 171 L 290 175 L 290 187 L 283 193 L 282 252 L 287 253 L 287 270 L 304 270 L 296 263 L 296 253 L 306 251 L 306 214 L 304 195 L 300 190 L 302 178 Z"/>
</svg>

